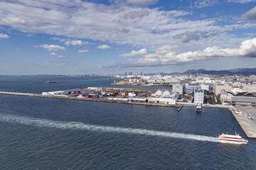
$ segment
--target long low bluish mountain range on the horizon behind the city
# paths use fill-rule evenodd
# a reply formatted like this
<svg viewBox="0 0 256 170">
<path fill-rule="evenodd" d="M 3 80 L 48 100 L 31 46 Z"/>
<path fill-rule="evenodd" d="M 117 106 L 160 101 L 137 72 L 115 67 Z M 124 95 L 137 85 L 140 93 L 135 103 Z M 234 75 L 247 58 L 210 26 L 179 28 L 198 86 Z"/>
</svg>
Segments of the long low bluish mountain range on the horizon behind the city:
<svg viewBox="0 0 256 170">
<path fill-rule="evenodd" d="M 206 70 L 206 69 L 188 69 L 181 74 L 256 74 L 256 68 L 242 68 L 242 69 L 226 69 L 226 70 Z"/>
</svg>

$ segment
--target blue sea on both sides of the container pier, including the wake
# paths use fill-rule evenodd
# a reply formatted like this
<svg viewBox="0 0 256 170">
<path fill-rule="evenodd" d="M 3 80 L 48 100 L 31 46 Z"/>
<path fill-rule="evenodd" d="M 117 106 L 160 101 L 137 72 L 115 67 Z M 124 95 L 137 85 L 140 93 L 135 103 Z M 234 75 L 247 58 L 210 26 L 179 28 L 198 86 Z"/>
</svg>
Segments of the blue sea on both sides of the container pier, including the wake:
<svg viewBox="0 0 256 170">
<path fill-rule="evenodd" d="M 54 79 L 57 84 L 46 84 L 48 79 L 38 77 L 1 78 L 0 89 L 53 91 L 110 86 L 113 81 L 84 79 L 59 77 Z M 194 108 L 183 107 L 178 112 L 169 107 L 4 95 L 0 95 L 0 108 L 0 169 L 256 166 L 256 140 L 249 139 L 248 145 L 206 140 L 234 131 L 245 137 L 226 109 L 203 108 L 196 113 Z M 144 130 L 150 130 L 149 134 Z M 170 137 L 172 132 L 176 134 Z"/>
</svg>

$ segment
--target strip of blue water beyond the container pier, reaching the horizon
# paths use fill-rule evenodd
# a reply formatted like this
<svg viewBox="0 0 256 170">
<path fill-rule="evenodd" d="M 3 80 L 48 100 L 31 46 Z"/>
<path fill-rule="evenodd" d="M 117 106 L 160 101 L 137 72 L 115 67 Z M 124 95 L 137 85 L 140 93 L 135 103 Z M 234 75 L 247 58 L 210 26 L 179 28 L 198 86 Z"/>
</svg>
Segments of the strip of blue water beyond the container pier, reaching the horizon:
<svg viewBox="0 0 256 170">
<path fill-rule="evenodd" d="M 127 87 L 139 89 L 172 89 L 164 86 L 116 86 L 110 85 L 117 78 L 105 77 L 0 77 L 0 91 L 41 94 L 43 91 L 81 89 L 88 86 Z M 47 81 L 56 81 L 47 84 Z"/>
</svg>

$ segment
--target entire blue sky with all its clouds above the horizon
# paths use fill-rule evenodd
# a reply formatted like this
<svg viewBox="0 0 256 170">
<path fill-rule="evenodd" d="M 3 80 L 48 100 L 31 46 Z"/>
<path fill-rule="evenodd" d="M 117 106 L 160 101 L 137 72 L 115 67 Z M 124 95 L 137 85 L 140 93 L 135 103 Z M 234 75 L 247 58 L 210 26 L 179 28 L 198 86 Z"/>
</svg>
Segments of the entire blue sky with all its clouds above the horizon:
<svg viewBox="0 0 256 170">
<path fill-rule="evenodd" d="M 256 0 L 1 0 L 0 75 L 256 67 Z"/>
</svg>

